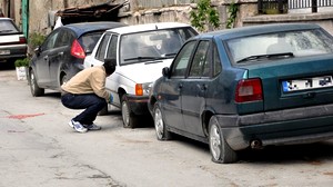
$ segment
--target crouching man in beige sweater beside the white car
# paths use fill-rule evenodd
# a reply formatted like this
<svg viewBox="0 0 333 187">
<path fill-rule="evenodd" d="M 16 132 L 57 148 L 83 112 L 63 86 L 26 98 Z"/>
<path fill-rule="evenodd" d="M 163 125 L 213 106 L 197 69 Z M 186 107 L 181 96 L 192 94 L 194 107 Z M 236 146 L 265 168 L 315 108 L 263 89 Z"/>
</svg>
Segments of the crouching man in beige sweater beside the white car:
<svg viewBox="0 0 333 187">
<path fill-rule="evenodd" d="M 115 60 L 105 59 L 102 66 L 83 69 L 61 86 L 61 102 L 70 109 L 84 109 L 69 122 L 79 132 L 100 130 L 93 124 L 98 112 L 111 104 L 113 97 L 105 90 L 105 79 L 115 70 Z"/>
</svg>

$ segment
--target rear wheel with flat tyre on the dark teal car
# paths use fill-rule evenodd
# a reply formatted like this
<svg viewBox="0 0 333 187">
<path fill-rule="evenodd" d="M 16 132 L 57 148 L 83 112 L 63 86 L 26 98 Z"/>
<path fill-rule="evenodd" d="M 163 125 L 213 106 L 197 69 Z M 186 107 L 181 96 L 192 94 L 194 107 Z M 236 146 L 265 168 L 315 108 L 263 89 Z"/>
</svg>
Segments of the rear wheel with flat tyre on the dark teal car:
<svg viewBox="0 0 333 187">
<path fill-rule="evenodd" d="M 221 131 L 216 117 L 212 117 L 209 124 L 209 144 L 212 160 L 214 163 L 235 163 L 238 160 L 236 152 L 228 145 Z"/>
</svg>

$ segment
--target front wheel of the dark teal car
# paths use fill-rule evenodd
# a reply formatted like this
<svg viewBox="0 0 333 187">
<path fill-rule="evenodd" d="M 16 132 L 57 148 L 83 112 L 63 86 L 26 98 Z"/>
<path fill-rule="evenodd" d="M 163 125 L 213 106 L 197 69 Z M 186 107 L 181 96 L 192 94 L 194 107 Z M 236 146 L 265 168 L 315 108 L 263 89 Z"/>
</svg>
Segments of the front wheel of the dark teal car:
<svg viewBox="0 0 333 187">
<path fill-rule="evenodd" d="M 171 132 L 167 130 L 165 124 L 163 121 L 162 111 L 158 102 L 154 105 L 153 119 L 158 140 L 171 139 Z"/>
</svg>

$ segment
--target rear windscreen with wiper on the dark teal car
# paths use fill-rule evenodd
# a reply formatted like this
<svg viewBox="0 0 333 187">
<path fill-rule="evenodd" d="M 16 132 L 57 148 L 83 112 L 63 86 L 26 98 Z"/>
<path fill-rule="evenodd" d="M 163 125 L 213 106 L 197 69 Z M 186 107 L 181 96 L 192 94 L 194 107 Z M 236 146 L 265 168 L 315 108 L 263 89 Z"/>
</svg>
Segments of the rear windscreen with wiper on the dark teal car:
<svg viewBox="0 0 333 187">
<path fill-rule="evenodd" d="M 293 58 L 332 53 L 332 37 L 320 29 L 276 32 L 226 41 L 231 58 L 236 63 L 276 58 L 279 55 Z"/>
</svg>

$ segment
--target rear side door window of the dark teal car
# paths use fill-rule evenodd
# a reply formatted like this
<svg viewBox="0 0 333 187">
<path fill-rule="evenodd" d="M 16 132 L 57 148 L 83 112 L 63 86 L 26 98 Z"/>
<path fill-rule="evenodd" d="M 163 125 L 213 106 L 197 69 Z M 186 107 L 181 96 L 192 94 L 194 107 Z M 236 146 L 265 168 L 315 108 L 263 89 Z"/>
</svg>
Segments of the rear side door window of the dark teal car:
<svg viewBox="0 0 333 187">
<path fill-rule="evenodd" d="M 209 51 L 210 42 L 200 41 L 196 51 L 193 56 L 192 65 L 190 68 L 189 78 L 209 77 L 209 61 L 206 53 Z"/>
</svg>

